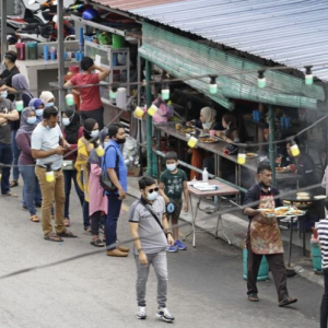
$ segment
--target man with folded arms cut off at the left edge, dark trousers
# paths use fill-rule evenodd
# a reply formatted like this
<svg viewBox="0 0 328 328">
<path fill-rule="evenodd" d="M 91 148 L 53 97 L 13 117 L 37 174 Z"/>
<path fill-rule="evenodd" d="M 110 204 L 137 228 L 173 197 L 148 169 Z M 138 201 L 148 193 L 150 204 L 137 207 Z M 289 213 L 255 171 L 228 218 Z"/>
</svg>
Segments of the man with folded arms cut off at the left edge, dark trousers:
<svg viewBox="0 0 328 328">
<path fill-rule="evenodd" d="M 0 92 L 0 163 L 5 165 L 12 164 L 12 138 L 11 121 L 20 118 L 19 112 L 14 108 L 12 102 L 7 99 L 7 92 Z M 10 191 L 10 166 L 2 167 L 1 194 L 3 196 L 17 197 Z"/>
</svg>

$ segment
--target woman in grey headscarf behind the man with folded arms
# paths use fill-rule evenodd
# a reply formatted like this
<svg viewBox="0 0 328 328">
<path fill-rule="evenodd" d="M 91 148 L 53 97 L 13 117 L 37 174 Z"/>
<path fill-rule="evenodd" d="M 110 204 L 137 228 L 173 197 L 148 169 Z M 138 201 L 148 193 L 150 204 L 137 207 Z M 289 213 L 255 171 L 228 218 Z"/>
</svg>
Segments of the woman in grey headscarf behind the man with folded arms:
<svg viewBox="0 0 328 328">
<path fill-rule="evenodd" d="M 24 108 L 28 106 L 30 101 L 33 98 L 33 95 L 28 91 L 30 86 L 27 83 L 26 78 L 23 74 L 15 74 L 12 77 L 12 87 L 8 87 L 9 93 L 19 93 L 21 94 L 21 98 L 24 104 Z M 16 101 L 17 101 L 16 96 Z M 20 178 L 20 169 L 16 166 L 19 163 L 19 157 L 20 157 L 20 149 L 16 145 L 16 133 L 20 128 L 20 120 L 15 120 L 11 122 L 11 131 L 12 131 L 12 155 L 13 155 L 13 167 L 12 171 L 12 181 L 10 184 L 10 187 L 16 187 L 19 185 L 19 178 Z"/>
</svg>

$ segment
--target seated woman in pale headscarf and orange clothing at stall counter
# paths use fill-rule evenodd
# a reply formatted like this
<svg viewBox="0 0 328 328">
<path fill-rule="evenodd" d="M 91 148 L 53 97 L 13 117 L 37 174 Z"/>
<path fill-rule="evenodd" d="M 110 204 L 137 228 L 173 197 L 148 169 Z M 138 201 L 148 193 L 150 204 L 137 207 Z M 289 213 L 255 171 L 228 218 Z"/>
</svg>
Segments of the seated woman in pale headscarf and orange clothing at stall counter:
<svg viewBox="0 0 328 328">
<path fill-rule="evenodd" d="M 196 126 L 196 128 L 202 129 L 204 132 L 209 132 L 210 130 L 218 130 L 219 125 L 215 121 L 215 117 L 216 117 L 215 109 L 213 109 L 211 107 L 203 107 L 200 109 L 199 119 L 195 119 L 194 121 L 188 122 L 187 125 L 194 124 Z M 210 154 L 201 149 L 192 149 L 192 150 L 190 149 L 190 151 L 192 152 L 191 165 L 202 169 L 203 168 L 203 166 L 202 166 L 203 160 L 206 157 L 210 156 Z M 195 177 L 199 180 L 201 178 L 201 174 L 191 169 L 190 171 L 190 180 L 192 180 Z"/>
</svg>

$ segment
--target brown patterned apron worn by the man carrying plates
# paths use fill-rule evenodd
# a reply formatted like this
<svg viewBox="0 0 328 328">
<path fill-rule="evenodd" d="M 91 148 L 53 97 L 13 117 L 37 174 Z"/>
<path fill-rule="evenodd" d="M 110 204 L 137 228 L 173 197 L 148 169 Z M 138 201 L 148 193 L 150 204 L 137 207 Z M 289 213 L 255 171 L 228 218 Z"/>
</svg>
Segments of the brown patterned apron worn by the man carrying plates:
<svg viewBox="0 0 328 328">
<path fill-rule="evenodd" d="M 259 209 L 274 209 L 276 202 L 272 195 L 260 196 Z M 253 253 L 259 255 L 282 254 L 283 245 L 280 235 L 278 221 L 272 223 L 261 222 L 261 216 L 251 219 L 249 226 L 249 242 Z"/>
</svg>

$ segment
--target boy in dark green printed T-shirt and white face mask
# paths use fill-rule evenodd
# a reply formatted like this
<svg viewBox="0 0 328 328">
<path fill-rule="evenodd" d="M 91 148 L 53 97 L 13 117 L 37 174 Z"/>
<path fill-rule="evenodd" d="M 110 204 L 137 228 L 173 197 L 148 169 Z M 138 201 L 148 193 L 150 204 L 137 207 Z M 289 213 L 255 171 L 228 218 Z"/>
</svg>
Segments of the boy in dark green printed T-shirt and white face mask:
<svg viewBox="0 0 328 328">
<path fill-rule="evenodd" d="M 173 246 L 166 248 L 167 251 L 177 251 L 187 249 L 187 246 L 179 241 L 179 229 L 178 219 L 180 216 L 183 208 L 183 192 L 185 195 L 185 206 L 184 211 L 188 212 L 189 204 L 189 192 L 187 186 L 187 175 L 186 173 L 177 168 L 178 157 L 176 152 L 168 152 L 165 155 L 166 168 L 160 178 L 160 194 L 164 198 L 166 206 L 173 203 L 174 211 L 167 211 L 167 215 L 171 216 L 171 224 L 173 227 L 173 238 L 175 243 Z"/>
</svg>

